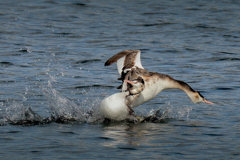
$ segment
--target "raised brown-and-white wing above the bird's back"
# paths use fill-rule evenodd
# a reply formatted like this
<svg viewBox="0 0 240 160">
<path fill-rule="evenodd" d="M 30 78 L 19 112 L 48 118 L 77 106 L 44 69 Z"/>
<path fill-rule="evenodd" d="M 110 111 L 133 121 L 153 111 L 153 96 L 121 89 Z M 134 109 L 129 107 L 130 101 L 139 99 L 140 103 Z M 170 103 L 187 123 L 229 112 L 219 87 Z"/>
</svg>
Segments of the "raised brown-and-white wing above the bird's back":
<svg viewBox="0 0 240 160">
<path fill-rule="evenodd" d="M 107 60 L 105 66 L 110 66 L 111 64 L 117 62 L 118 73 L 120 75 L 122 72 L 126 73 L 126 71 L 131 70 L 133 67 L 143 69 L 140 54 L 140 50 L 125 50 L 119 52 Z"/>
</svg>

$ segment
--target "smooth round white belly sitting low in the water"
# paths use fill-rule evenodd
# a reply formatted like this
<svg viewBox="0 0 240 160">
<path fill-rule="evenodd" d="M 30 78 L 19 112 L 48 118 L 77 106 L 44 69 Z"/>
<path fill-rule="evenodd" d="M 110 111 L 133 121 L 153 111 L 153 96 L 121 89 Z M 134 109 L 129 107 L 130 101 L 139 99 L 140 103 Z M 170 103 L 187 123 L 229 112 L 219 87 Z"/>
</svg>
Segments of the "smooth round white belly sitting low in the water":
<svg viewBox="0 0 240 160">
<path fill-rule="evenodd" d="M 129 108 L 126 105 L 126 96 L 128 92 L 121 92 L 113 94 L 100 104 L 100 112 L 105 118 L 113 120 L 124 120 L 129 117 Z"/>
</svg>

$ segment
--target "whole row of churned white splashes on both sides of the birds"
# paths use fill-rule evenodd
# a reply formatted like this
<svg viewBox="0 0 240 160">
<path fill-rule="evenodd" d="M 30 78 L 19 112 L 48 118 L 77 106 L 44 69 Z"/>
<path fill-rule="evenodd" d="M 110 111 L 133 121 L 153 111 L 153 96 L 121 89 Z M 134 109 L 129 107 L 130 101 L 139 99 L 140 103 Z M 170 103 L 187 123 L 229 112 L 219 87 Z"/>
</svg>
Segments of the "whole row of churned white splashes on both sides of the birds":
<svg viewBox="0 0 240 160">
<path fill-rule="evenodd" d="M 109 123 L 110 120 L 104 119 L 99 112 L 101 100 L 96 98 L 95 101 L 89 100 L 80 105 L 74 103 L 67 97 L 61 95 L 51 86 L 42 89 L 46 96 L 51 114 L 43 118 L 37 114 L 31 107 L 24 107 L 22 103 L 13 102 L 11 105 L 1 110 L 0 125 L 42 125 L 52 122 L 56 123 Z M 89 106 L 91 106 L 89 108 Z M 169 119 L 182 118 L 189 115 L 191 108 L 175 108 L 170 104 L 152 109 L 150 111 L 138 111 L 135 115 L 139 121 L 125 120 L 128 123 L 162 123 Z"/>
</svg>

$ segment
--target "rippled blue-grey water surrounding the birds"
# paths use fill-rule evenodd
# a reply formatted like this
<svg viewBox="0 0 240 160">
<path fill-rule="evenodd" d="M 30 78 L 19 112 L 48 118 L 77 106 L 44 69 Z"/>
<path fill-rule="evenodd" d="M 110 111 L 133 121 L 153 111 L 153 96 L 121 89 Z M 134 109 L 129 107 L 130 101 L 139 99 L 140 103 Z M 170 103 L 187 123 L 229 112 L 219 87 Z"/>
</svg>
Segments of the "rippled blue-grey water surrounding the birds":
<svg viewBox="0 0 240 160">
<path fill-rule="evenodd" d="M 8 0 L 0 20 L 1 159 L 240 158 L 238 1 Z M 215 104 L 168 90 L 134 109 L 156 123 L 93 123 L 125 49 Z"/>
</svg>

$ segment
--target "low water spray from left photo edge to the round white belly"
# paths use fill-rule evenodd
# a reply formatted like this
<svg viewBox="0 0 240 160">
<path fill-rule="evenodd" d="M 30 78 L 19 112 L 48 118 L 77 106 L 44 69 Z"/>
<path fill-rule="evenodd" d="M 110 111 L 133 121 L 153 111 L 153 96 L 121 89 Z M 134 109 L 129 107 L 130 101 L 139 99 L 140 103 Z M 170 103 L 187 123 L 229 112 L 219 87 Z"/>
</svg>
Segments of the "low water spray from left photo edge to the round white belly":
<svg viewBox="0 0 240 160">
<path fill-rule="evenodd" d="M 21 102 L 12 102 L 4 111 L 1 110 L 0 125 L 39 125 L 51 122 L 101 123 L 104 120 L 99 114 L 98 107 L 87 109 L 87 107 L 79 106 L 55 89 L 45 88 L 43 93 L 47 97 L 51 110 L 49 117 L 43 118 L 31 107 L 25 107 Z M 86 102 L 83 104 L 87 105 Z"/>
</svg>

